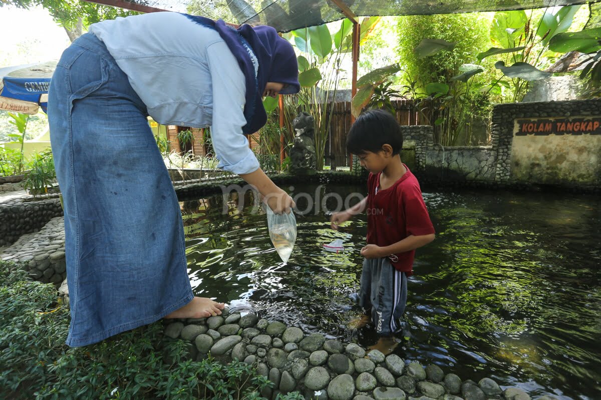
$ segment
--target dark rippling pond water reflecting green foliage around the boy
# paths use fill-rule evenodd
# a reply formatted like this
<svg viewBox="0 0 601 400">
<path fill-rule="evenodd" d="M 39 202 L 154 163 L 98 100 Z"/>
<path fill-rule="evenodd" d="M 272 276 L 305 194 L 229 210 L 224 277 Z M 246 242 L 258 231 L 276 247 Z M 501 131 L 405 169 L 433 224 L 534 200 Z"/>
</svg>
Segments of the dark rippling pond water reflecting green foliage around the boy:
<svg viewBox="0 0 601 400">
<path fill-rule="evenodd" d="M 296 200 L 308 212 L 297 215 L 288 264 L 251 192 L 181 203 L 195 293 L 308 333 L 373 344 L 370 327 L 348 324 L 361 313 L 355 294 L 366 217 L 337 232 L 325 212 L 364 186 L 289 189 L 293 197 L 307 193 Z M 601 399 L 601 199 L 423 190 L 438 233 L 417 251 L 394 353 L 534 398 Z M 323 249 L 334 239 L 346 251 Z"/>
</svg>

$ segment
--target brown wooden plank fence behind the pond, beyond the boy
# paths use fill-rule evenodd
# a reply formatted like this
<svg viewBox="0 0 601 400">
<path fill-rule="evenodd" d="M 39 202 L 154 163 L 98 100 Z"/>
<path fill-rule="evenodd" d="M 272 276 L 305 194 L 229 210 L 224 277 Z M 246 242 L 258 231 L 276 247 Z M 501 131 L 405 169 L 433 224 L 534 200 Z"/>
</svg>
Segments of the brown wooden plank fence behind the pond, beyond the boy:
<svg viewBox="0 0 601 400">
<path fill-rule="evenodd" d="M 399 124 L 419 125 L 419 116 L 411 100 L 393 100 L 391 104 Z M 331 165 L 329 155 L 334 155 L 334 163 L 337 167 L 350 165 L 349 155 L 346 152 L 346 136 L 349 133 L 350 125 L 350 102 L 334 103 L 330 133 L 324 152 L 326 165 Z"/>
</svg>

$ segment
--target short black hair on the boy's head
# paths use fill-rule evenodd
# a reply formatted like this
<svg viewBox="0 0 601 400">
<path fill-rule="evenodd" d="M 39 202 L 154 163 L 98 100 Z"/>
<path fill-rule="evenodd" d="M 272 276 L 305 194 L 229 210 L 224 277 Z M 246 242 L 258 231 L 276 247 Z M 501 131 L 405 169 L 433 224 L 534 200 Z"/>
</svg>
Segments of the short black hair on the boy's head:
<svg viewBox="0 0 601 400">
<path fill-rule="evenodd" d="M 346 149 L 352 154 L 377 153 L 386 144 L 392 147 L 392 155 L 403 148 L 401 126 L 385 110 L 368 110 L 359 115 L 346 137 Z"/>
</svg>

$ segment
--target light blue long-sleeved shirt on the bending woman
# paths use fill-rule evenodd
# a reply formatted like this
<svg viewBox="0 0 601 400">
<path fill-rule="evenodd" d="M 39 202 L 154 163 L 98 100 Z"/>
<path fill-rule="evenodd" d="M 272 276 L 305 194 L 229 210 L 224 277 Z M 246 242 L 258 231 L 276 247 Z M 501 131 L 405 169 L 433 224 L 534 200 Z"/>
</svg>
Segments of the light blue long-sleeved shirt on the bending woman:
<svg viewBox="0 0 601 400">
<path fill-rule="evenodd" d="M 211 127 L 219 168 L 246 174 L 259 163 L 242 134 L 245 77 L 218 32 L 178 13 L 149 13 L 90 26 L 148 114 L 162 125 Z M 255 72 L 258 64 L 254 55 Z"/>
</svg>

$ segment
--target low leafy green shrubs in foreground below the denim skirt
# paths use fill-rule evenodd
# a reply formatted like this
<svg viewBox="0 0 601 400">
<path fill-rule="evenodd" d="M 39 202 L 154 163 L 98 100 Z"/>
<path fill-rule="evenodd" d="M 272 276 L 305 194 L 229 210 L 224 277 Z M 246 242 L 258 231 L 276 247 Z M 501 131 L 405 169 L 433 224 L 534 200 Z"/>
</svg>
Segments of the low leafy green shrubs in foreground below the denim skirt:
<svg viewBox="0 0 601 400">
<path fill-rule="evenodd" d="M 255 365 L 190 360 L 190 344 L 165 338 L 162 322 L 79 348 L 64 344 L 68 329 L 54 285 L 0 261 L 0 398 L 258 400 L 272 385 Z"/>
</svg>

